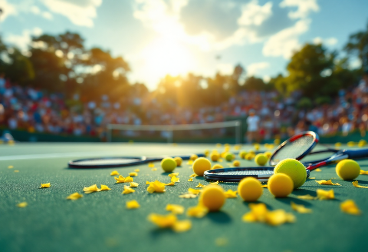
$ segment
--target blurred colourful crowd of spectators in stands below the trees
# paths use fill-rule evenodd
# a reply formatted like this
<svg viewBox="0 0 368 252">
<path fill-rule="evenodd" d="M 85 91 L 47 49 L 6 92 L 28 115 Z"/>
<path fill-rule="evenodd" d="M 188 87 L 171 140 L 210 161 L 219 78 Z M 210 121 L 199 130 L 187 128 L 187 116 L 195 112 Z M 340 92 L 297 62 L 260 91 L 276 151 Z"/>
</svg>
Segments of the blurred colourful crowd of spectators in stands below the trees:
<svg viewBox="0 0 368 252">
<path fill-rule="evenodd" d="M 66 103 L 62 94 L 45 94 L 31 87 L 21 87 L 0 76 L 0 125 L 3 128 L 72 134 L 75 136 L 106 136 L 107 123 L 118 124 L 185 124 L 221 122 L 229 118 L 247 118 L 253 111 L 256 120 L 256 140 L 268 140 L 275 135 L 284 138 L 304 130 L 320 135 L 348 134 L 368 126 L 368 77 L 351 90 L 340 90 L 331 104 L 300 108 L 301 95 L 295 92 L 282 98 L 277 91 L 241 92 L 218 106 L 198 110 L 163 109 L 153 96 L 133 97 L 128 104 L 110 102 L 107 95 L 100 101 L 79 100 L 79 109 Z"/>
</svg>

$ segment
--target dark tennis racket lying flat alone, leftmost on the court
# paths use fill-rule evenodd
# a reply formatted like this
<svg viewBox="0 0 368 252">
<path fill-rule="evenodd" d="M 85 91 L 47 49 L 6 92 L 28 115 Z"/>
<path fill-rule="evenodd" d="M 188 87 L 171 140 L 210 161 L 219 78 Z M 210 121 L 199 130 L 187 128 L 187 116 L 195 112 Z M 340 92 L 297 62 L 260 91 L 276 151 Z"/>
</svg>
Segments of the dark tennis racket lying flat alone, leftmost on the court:
<svg viewBox="0 0 368 252">
<path fill-rule="evenodd" d="M 192 154 L 184 154 L 173 157 L 181 157 L 183 160 L 190 159 Z M 197 154 L 198 157 L 204 157 L 204 154 Z M 168 156 L 156 157 L 103 157 L 103 158 L 85 158 L 68 162 L 70 168 L 113 168 L 125 167 L 131 165 L 140 165 L 148 162 L 161 161 Z"/>
</svg>

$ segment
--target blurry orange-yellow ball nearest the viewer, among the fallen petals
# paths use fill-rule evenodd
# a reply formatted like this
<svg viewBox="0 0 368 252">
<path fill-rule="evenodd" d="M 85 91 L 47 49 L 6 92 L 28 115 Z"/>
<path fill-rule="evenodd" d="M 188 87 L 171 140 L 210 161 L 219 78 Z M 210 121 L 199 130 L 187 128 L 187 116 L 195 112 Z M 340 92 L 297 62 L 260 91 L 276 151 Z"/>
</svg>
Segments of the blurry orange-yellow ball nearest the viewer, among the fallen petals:
<svg viewBox="0 0 368 252">
<path fill-rule="evenodd" d="M 224 190 L 219 185 L 206 186 L 200 196 L 199 202 L 209 211 L 219 211 L 226 201 Z"/>
</svg>

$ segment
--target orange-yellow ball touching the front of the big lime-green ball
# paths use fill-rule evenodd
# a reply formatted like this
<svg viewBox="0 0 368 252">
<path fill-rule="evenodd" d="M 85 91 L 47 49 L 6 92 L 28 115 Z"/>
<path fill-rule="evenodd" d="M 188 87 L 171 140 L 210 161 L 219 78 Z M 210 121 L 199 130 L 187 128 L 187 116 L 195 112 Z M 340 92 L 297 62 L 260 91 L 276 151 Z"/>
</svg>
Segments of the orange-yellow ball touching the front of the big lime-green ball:
<svg viewBox="0 0 368 252">
<path fill-rule="evenodd" d="M 267 182 L 268 190 L 275 197 L 286 197 L 294 190 L 293 180 L 284 173 L 273 174 Z"/>
</svg>

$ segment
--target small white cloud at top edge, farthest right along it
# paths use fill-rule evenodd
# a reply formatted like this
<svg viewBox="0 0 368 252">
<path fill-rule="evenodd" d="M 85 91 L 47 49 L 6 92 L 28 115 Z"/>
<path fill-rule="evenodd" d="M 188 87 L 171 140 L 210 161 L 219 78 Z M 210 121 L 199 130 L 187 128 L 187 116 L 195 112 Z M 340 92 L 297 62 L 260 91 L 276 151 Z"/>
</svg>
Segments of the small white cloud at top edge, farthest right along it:
<svg viewBox="0 0 368 252">
<path fill-rule="evenodd" d="M 280 7 L 297 7 L 296 11 L 290 11 L 291 19 L 306 18 L 312 11 L 319 11 L 317 0 L 283 0 Z"/>
</svg>

